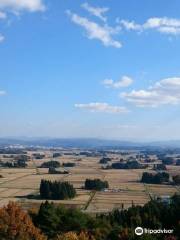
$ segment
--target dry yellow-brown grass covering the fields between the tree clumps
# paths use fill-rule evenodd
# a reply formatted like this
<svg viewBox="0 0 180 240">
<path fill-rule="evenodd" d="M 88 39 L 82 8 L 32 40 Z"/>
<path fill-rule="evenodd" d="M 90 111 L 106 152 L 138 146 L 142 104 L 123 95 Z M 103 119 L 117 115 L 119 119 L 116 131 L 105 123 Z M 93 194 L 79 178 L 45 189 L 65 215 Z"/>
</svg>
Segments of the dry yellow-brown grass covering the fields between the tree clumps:
<svg viewBox="0 0 180 240">
<path fill-rule="evenodd" d="M 35 153 L 35 152 L 34 152 Z M 37 152 L 36 152 L 37 153 Z M 81 189 L 84 186 L 84 181 L 87 178 L 100 178 L 109 182 L 110 189 L 119 192 L 96 192 L 87 212 L 107 212 L 114 208 L 130 207 L 132 202 L 134 205 L 143 205 L 149 199 L 149 193 L 152 195 L 173 195 L 177 192 L 177 188 L 170 185 L 147 185 L 140 183 L 139 180 L 144 171 L 154 172 L 148 169 L 139 170 L 102 170 L 99 164 L 100 157 L 84 157 L 64 155 L 53 160 L 63 162 L 75 162 L 76 166 L 67 168 L 69 175 L 48 174 L 48 169 L 38 168 L 40 175 L 37 174 L 36 167 L 39 167 L 43 162 L 52 159 L 51 151 L 40 151 L 40 154 L 45 154 L 45 159 L 34 160 L 28 162 L 26 169 L 0 169 L 0 206 L 7 204 L 10 200 L 19 201 L 24 208 L 39 206 L 43 200 L 30 200 L 26 196 L 33 193 L 38 193 L 41 179 L 69 181 L 77 190 L 77 196 L 71 200 L 54 201 L 56 204 L 65 206 L 78 207 L 84 209 L 90 199 L 90 191 Z M 28 152 L 32 156 L 33 152 Z M 131 153 L 134 156 L 135 153 Z M 120 154 L 112 154 L 109 157 L 113 158 L 112 162 L 119 161 L 120 158 L 126 159 L 127 156 Z M 81 161 L 77 161 L 81 158 Z M 7 159 L 5 159 L 7 161 Z M 8 159 L 9 160 L 9 159 Z M 168 172 L 171 175 L 179 174 L 180 166 L 168 166 Z M 148 190 L 148 191 L 147 191 Z"/>
</svg>

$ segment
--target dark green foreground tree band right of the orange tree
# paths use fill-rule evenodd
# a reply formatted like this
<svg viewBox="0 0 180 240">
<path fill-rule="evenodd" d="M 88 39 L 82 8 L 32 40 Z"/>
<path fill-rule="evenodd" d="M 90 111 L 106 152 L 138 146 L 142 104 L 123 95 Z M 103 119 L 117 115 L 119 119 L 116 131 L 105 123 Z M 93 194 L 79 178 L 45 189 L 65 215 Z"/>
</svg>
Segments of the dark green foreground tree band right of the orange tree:
<svg viewBox="0 0 180 240">
<path fill-rule="evenodd" d="M 180 195 L 174 195 L 168 204 L 151 200 L 144 206 L 116 209 L 95 217 L 78 209 L 45 202 L 41 204 L 34 222 L 49 239 L 56 239 L 58 235 L 57 240 L 73 239 L 70 237 L 92 240 L 93 236 L 97 240 L 135 240 L 139 237 L 134 235 L 134 229 L 142 226 L 150 229 L 173 229 L 175 238 L 167 239 L 175 240 L 180 236 Z M 164 237 L 162 234 L 157 238 L 147 234 L 142 239 L 162 240 Z"/>
</svg>

